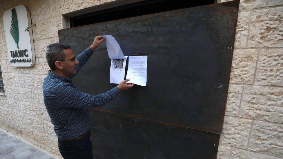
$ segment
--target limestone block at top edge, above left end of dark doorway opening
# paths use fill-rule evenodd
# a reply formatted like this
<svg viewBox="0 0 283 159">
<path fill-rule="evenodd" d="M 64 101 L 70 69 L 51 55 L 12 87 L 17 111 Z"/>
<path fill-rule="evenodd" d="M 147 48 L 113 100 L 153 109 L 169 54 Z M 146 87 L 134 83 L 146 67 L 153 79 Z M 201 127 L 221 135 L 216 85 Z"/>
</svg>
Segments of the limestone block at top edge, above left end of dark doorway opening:
<svg viewBox="0 0 283 159">
<path fill-rule="evenodd" d="M 70 1 L 70 0 L 55 0 L 56 9 L 60 14 L 65 14 L 75 10 L 80 10 L 92 6 L 92 0 L 85 1 Z"/>
</svg>

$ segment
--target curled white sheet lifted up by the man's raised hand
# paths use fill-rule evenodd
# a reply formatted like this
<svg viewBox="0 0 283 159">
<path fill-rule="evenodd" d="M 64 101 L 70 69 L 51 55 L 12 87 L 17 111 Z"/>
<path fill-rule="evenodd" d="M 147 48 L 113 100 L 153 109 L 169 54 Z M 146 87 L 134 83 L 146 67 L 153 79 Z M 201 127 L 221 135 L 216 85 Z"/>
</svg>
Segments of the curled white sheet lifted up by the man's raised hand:
<svg viewBox="0 0 283 159">
<path fill-rule="evenodd" d="M 119 43 L 112 35 L 103 35 L 102 37 L 106 39 L 105 42 L 110 59 L 126 59 Z"/>
</svg>

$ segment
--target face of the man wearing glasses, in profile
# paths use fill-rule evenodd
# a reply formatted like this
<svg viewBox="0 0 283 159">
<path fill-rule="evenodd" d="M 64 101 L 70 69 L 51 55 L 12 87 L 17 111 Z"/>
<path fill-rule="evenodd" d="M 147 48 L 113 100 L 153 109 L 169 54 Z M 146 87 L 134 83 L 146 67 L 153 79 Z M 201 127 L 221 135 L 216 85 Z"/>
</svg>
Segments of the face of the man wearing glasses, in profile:
<svg viewBox="0 0 283 159">
<path fill-rule="evenodd" d="M 62 61 L 64 63 L 63 72 L 68 77 L 75 75 L 77 73 L 77 64 L 79 64 L 79 61 L 75 58 L 75 55 L 71 49 L 64 50 L 65 53 L 65 59 L 66 61 Z M 74 60 L 68 60 L 68 59 L 74 59 Z"/>
</svg>

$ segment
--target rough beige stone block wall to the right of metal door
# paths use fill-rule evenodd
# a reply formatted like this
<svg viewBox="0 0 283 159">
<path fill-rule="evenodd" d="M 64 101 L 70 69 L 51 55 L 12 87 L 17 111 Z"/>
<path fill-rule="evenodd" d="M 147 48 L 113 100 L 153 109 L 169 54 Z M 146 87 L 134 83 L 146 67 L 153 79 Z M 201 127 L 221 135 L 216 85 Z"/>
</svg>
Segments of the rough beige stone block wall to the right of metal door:
<svg viewBox="0 0 283 159">
<path fill-rule="evenodd" d="M 283 1 L 241 0 L 217 158 L 283 158 L 282 82 Z"/>
</svg>

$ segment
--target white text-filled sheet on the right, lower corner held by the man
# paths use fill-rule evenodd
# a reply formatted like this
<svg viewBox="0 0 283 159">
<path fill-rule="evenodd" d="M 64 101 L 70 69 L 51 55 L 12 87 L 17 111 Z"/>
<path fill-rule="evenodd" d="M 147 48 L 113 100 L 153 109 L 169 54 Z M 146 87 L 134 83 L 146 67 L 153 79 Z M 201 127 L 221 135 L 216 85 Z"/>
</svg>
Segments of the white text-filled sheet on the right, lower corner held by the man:
<svg viewBox="0 0 283 159">
<path fill-rule="evenodd" d="M 126 79 L 127 83 L 146 86 L 147 56 L 129 56 L 129 65 Z"/>
</svg>

